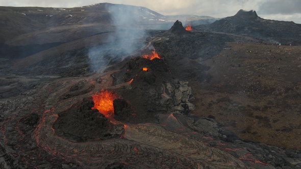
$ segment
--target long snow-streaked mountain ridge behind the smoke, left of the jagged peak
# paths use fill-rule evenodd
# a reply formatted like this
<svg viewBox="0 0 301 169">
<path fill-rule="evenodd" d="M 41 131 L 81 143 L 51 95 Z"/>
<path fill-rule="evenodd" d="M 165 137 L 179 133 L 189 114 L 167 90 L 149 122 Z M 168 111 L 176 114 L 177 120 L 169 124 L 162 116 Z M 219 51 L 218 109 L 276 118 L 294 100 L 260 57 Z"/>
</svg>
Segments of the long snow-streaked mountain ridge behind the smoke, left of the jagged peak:
<svg viewBox="0 0 301 169">
<path fill-rule="evenodd" d="M 114 9 L 114 11 L 110 9 Z M 214 21 L 214 18 L 209 16 L 164 16 L 145 7 L 110 3 L 99 3 L 76 8 L 0 7 L 0 43 L 20 45 L 18 43 L 20 39 L 33 36 L 34 32 L 41 36 L 43 34 L 57 34 L 52 30 L 53 27 L 56 27 L 56 31 L 59 29 L 60 31 L 58 32 L 73 30 L 77 34 L 81 33 L 82 36 L 112 31 L 113 29 L 110 26 L 116 24 L 113 23 L 112 12 L 120 16 L 131 16 L 135 20 L 132 24 L 142 25 L 143 29 L 169 29 L 174 21 L 178 19 L 183 23 L 185 21 L 207 19 L 210 19 L 207 21 L 209 23 Z M 106 26 L 107 29 L 105 28 Z M 81 27 L 89 27 L 90 31 L 83 32 Z M 66 35 L 69 38 L 57 37 L 57 40 L 49 39 L 46 42 L 39 40 L 43 38 L 42 36 L 37 39 L 36 43 L 44 44 L 78 39 L 74 37 L 76 36 L 74 32 Z M 70 39 L 71 36 L 74 38 Z M 44 40 L 46 39 L 44 38 Z"/>
</svg>

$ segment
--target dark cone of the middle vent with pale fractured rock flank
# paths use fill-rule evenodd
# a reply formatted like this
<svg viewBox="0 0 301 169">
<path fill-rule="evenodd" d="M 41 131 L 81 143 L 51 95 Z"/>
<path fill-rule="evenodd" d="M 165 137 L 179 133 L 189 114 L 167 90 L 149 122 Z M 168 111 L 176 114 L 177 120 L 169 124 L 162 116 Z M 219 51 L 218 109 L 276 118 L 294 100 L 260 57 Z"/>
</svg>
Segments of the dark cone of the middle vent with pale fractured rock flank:
<svg viewBox="0 0 301 169">
<path fill-rule="evenodd" d="M 190 102 L 194 97 L 191 88 L 188 87 L 188 81 L 173 79 L 168 72 L 168 68 L 164 63 L 164 59 L 154 59 L 151 61 L 137 59 L 134 62 L 135 66 L 133 66 L 131 63 L 133 62 L 130 62 L 128 75 L 133 76 L 133 74 L 137 74 L 133 81 L 133 87 L 140 86 L 141 82 L 147 83 L 147 85 L 142 85 L 144 91 L 148 91 L 145 93 L 143 92 L 143 95 L 145 95 L 145 98 L 148 98 L 147 102 L 153 103 L 152 105 L 156 105 L 152 106 L 152 108 L 149 107 L 152 109 L 152 111 L 180 113 L 181 111 L 178 111 L 179 106 L 181 107 L 180 110 L 182 111 L 184 109 L 188 112 L 194 110 L 194 106 L 189 106 L 186 108 L 182 107 L 186 104 L 193 105 Z M 149 70 L 141 72 L 141 67 L 143 65 L 147 65 Z M 152 81 L 149 79 L 152 79 Z"/>
</svg>

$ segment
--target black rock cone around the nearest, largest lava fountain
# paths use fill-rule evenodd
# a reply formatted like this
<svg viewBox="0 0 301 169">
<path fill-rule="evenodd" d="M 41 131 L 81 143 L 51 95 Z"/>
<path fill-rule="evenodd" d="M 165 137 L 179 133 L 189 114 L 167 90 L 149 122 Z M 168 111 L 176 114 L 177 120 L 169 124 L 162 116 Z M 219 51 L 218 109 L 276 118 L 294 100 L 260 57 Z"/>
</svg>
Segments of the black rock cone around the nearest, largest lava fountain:
<svg viewBox="0 0 301 169">
<path fill-rule="evenodd" d="M 93 104 L 91 99 L 83 99 L 82 102 L 59 113 L 58 119 L 53 125 L 56 134 L 71 142 L 119 137 L 123 131 L 117 131 L 119 130 L 118 125 L 113 126 L 97 109 L 91 109 Z"/>
</svg>

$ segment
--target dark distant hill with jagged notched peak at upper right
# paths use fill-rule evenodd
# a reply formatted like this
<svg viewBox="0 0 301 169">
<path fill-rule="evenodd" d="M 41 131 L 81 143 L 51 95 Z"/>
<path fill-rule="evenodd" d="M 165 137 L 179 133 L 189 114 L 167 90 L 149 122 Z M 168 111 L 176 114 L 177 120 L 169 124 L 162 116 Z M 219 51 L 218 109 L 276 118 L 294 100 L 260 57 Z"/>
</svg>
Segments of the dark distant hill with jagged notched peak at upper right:
<svg viewBox="0 0 301 169">
<path fill-rule="evenodd" d="M 301 24 L 263 19 L 253 10 L 239 10 L 234 16 L 222 18 L 208 25 L 199 25 L 196 28 L 249 36 L 273 43 L 301 44 Z"/>
</svg>

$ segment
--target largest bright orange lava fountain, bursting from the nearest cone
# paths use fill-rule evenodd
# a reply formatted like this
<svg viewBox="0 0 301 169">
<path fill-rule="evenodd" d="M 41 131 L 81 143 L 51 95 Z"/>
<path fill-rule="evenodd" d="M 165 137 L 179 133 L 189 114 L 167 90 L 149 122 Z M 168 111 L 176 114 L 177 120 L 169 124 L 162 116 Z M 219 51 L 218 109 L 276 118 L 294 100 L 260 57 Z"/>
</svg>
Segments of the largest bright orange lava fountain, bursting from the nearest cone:
<svg viewBox="0 0 301 169">
<path fill-rule="evenodd" d="M 92 95 L 94 106 L 101 114 L 108 117 L 114 116 L 113 100 L 118 98 L 113 92 L 102 90 L 101 93 Z"/>
</svg>

